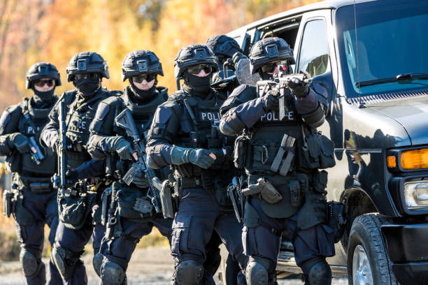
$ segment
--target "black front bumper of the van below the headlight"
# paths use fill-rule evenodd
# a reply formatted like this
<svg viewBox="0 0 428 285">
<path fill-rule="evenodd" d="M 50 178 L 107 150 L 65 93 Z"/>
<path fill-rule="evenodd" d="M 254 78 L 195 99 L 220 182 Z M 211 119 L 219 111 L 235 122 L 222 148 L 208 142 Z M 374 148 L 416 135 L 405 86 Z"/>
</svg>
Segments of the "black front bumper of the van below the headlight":
<svg viewBox="0 0 428 285">
<path fill-rule="evenodd" d="M 383 242 L 401 284 L 428 284 L 428 224 L 383 225 Z"/>
</svg>

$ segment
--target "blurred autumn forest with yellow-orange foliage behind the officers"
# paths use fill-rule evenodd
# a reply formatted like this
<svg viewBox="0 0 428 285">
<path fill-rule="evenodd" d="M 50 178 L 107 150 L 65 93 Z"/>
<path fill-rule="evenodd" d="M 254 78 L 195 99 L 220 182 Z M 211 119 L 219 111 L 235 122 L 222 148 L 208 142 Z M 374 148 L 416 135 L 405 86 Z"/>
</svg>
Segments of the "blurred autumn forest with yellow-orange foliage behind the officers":
<svg viewBox="0 0 428 285">
<path fill-rule="evenodd" d="M 0 0 L 0 110 L 31 92 L 25 74 L 37 61 L 65 68 L 77 52 L 99 52 L 106 59 L 108 89 L 123 89 L 124 56 L 152 50 L 162 62 L 159 85 L 176 90 L 173 59 L 184 45 L 205 43 L 262 17 L 317 0 Z"/>
</svg>

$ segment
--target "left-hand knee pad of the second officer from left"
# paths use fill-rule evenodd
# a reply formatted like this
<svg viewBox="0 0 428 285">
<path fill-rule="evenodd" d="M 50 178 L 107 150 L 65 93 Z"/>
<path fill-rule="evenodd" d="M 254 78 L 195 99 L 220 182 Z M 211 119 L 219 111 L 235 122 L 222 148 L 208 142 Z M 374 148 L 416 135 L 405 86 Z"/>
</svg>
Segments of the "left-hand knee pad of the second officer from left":
<svg viewBox="0 0 428 285">
<path fill-rule="evenodd" d="M 71 258 L 80 256 L 80 252 L 63 249 L 59 245 L 54 244 L 52 247 L 51 259 L 57 267 L 62 279 L 70 279 L 76 271 L 77 263 Z"/>
</svg>

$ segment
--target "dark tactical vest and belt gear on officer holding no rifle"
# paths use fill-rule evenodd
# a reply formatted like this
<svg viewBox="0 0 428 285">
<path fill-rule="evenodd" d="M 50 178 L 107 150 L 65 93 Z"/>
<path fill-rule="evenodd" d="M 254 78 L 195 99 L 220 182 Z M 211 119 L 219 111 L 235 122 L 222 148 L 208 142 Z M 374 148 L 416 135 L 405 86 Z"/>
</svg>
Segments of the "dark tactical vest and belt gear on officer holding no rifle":
<svg viewBox="0 0 428 285">
<path fill-rule="evenodd" d="M 219 210 L 233 211 L 226 189 L 231 178 L 238 173 L 231 161 L 231 149 L 235 138 L 224 136 L 218 128 L 220 106 L 225 98 L 222 98 L 222 94 L 217 92 L 211 92 L 207 97 L 208 99 L 205 100 L 190 96 L 183 91 L 177 92 L 173 96 L 177 96 L 175 100 L 185 110 L 180 118 L 181 132 L 173 143 L 180 147 L 208 149 L 217 156 L 215 163 L 208 169 L 200 168 L 192 163 L 185 163 L 173 166 L 176 173 L 180 175 L 182 182 L 186 178 L 191 178 L 189 181 L 194 182 L 193 178 L 197 178 L 201 181 L 197 187 L 204 187 L 213 196 L 215 205 Z M 223 156 L 223 149 L 224 151 L 228 149 L 226 156 Z M 186 186 L 182 184 L 182 187 Z"/>
</svg>

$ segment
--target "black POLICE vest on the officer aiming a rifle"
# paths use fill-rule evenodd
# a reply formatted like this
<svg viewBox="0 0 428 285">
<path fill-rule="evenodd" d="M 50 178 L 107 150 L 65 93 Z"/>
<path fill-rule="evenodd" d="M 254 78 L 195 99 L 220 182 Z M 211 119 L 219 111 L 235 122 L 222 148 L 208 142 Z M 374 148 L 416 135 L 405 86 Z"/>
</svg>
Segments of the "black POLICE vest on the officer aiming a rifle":
<svg viewBox="0 0 428 285">
<path fill-rule="evenodd" d="M 284 134 L 295 139 L 291 150 L 295 156 L 292 168 L 299 166 L 299 152 L 303 146 L 303 133 L 307 132 L 304 122 L 297 114 L 294 100 L 286 103 L 285 117 L 280 120 L 279 112 L 266 112 L 250 129 L 250 142 L 247 144 L 245 168 L 250 173 L 269 173 Z"/>
</svg>

